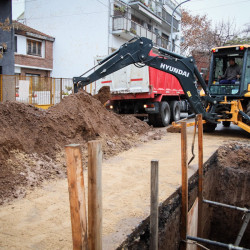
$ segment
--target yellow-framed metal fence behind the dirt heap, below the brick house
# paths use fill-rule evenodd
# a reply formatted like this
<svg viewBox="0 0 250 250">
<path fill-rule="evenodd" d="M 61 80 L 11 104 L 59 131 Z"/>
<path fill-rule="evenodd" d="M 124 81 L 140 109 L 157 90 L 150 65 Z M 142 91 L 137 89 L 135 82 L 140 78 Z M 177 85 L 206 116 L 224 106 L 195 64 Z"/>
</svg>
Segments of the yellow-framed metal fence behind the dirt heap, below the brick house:
<svg viewBox="0 0 250 250">
<path fill-rule="evenodd" d="M 0 75 L 0 101 L 19 101 L 47 109 L 72 92 L 71 78 Z"/>
</svg>

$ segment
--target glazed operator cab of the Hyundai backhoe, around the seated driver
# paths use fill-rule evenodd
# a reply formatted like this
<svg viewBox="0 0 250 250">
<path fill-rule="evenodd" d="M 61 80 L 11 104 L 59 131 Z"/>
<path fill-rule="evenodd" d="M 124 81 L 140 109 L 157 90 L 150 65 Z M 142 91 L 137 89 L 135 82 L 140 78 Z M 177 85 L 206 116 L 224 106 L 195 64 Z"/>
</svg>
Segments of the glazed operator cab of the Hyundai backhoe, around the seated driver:
<svg viewBox="0 0 250 250">
<path fill-rule="evenodd" d="M 249 45 L 226 46 L 212 49 L 210 65 L 209 91 L 213 97 L 228 99 L 241 98 L 248 92 L 250 84 L 250 49 Z M 240 78 L 233 82 L 224 83 L 222 76 L 233 59 L 240 68 Z"/>
</svg>

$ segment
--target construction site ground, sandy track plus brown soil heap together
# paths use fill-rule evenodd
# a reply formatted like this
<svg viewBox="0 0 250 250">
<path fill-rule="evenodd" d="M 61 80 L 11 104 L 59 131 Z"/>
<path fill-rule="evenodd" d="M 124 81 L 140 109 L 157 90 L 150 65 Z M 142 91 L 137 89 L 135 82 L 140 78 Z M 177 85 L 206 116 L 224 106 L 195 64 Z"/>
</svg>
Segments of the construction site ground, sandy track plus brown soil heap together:
<svg viewBox="0 0 250 250">
<path fill-rule="evenodd" d="M 19 111 L 23 112 L 24 118 L 18 118 L 17 127 L 13 119 L 12 123 L 6 121 L 17 132 L 13 134 L 5 127 L 0 140 L 1 249 L 72 249 L 68 183 L 62 150 L 66 144 L 81 144 L 86 168 L 87 141 L 99 139 L 103 142 L 103 249 L 118 247 L 149 215 L 151 160 L 159 160 L 159 202 L 166 200 L 180 186 L 179 133 L 149 127 L 134 117 L 111 114 L 85 93 L 68 97 L 47 113 L 23 104 L 4 105 L 0 107 L 0 116 L 11 116 Z M 23 123 L 25 129 L 21 130 Z M 32 126 L 28 128 L 30 123 Z M 46 135 L 42 135 L 44 130 Z M 189 158 L 192 139 L 193 127 L 190 127 Z M 236 126 L 219 126 L 215 133 L 204 134 L 204 161 L 220 145 L 239 141 L 249 144 L 249 136 Z M 189 167 L 189 175 L 197 169 L 197 138 L 195 148 L 196 158 Z M 86 169 L 84 178 L 87 192 Z"/>
</svg>

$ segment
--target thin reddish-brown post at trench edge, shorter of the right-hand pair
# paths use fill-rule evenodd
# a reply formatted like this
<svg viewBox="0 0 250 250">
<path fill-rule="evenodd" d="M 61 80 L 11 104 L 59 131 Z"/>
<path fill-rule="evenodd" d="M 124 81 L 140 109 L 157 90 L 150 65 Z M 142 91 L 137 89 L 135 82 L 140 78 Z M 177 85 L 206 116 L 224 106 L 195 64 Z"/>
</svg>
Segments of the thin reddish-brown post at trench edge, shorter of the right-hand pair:
<svg viewBox="0 0 250 250">
<path fill-rule="evenodd" d="M 181 239 L 186 241 L 188 218 L 188 176 L 187 176 L 187 124 L 181 122 Z M 181 250 L 186 249 L 186 243 L 181 243 Z"/>
</svg>

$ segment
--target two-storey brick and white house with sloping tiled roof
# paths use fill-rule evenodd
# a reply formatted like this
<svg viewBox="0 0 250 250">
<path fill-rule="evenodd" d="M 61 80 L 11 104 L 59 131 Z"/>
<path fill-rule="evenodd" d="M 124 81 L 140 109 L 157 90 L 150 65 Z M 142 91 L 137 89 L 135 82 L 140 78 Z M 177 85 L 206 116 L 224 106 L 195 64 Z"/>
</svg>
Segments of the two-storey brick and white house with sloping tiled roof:
<svg viewBox="0 0 250 250">
<path fill-rule="evenodd" d="M 17 21 L 13 23 L 15 27 L 15 74 L 50 77 L 53 69 L 55 38 Z"/>
</svg>

